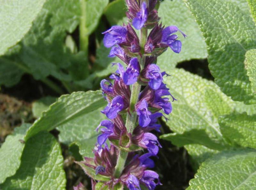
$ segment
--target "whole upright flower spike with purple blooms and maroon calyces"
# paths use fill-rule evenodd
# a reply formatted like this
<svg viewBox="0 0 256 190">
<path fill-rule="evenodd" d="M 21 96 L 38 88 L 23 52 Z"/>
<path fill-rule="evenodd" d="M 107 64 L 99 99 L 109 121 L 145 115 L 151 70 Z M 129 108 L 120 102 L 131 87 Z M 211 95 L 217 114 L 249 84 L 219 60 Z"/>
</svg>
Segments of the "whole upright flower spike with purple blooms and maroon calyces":
<svg viewBox="0 0 256 190">
<path fill-rule="evenodd" d="M 103 97 L 108 102 L 101 113 L 108 120 L 101 121 L 96 129 L 100 135 L 94 158 L 77 162 L 92 178 L 92 189 L 98 185 L 101 189 L 126 186 L 136 190 L 145 186 L 151 190 L 161 185 L 159 175 L 148 170 L 154 167 L 151 158 L 157 157 L 161 148 L 151 131 L 160 132 L 157 118 L 170 114 L 171 102 L 176 99 L 163 82 L 163 77 L 169 75 L 156 65 L 156 58 L 168 47 L 180 53 L 181 42 L 174 33 L 186 35 L 176 26 L 159 23 L 158 0 L 126 0 L 126 5 L 128 24 L 112 26 L 102 33 L 104 45 L 111 48 L 109 57 L 119 57 L 126 68 L 113 63 L 116 73 L 101 81 Z M 143 149 L 147 153 L 141 154 Z"/>
</svg>

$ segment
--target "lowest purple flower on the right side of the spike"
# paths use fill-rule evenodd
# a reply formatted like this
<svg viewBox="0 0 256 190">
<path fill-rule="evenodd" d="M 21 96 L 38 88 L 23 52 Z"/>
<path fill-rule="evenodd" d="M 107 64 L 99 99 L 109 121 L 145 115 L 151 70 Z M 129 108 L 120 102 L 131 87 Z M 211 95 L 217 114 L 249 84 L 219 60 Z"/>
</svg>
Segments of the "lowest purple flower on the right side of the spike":
<svg viewBox="0 0 256 190">
<path fill-rule="evenodd" d="M 155 183 L 155 180 L 157 180 L 157 183 Z M 147 186 L 149 190 L 155 189 L 156 185 L 162 185 L 159 181 L 159 175 L 152 170 L 145 170 L 140 182 Z"/>
</svg>

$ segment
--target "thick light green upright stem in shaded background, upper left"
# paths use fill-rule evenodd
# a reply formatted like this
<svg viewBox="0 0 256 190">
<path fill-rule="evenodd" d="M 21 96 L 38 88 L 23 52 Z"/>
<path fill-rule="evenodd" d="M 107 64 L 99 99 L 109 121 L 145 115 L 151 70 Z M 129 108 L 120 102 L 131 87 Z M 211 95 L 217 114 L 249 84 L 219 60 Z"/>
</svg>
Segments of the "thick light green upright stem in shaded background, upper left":
<svg viewBox="0 0 256 190">
<path fill-rule="evenodd" d="M 89 35 L 86 27 L 86 5 L 87 0 L 80 0 L 81 2 L 81 17 L 80 17 L 80 25 L 79 25 L 79 46 L 80 50 L 85 52 L 85 56 L 87 57 L 86 61 L 86 76 L 89 75 L 89 65 L 88 65 L 88 46 L 89 46 Z M 85 77 L 86 77 L 85 76 Z"/>
</svg>

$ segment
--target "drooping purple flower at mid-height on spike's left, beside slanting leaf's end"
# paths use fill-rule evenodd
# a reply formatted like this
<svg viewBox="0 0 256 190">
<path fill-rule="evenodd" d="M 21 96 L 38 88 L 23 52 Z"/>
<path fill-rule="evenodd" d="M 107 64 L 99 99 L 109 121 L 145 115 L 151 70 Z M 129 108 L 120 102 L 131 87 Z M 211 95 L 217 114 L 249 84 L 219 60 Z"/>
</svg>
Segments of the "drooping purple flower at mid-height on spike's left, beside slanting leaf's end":
<svg viewBox="0 0 256 190">
<path fill-rule="evenodd" d="M 106 108 L 101 111 L 101 113 L 106 114 L 109 119 L 114 119 L 117 113 L 122 111 L 124 108 L 124 99 L 122 96 L 116 96 L 113 98 L 111 103 L 108 103 Z"/>
</svg>

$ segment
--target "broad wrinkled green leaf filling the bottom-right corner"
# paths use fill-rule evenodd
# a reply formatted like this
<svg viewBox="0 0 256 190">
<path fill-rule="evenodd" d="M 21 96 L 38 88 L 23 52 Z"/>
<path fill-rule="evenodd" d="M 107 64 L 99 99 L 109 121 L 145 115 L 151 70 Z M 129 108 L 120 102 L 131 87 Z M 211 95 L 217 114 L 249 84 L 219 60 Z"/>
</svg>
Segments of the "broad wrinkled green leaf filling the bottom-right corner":
<svg viewBox="0 0 256 190">
<path fill-rule="evenodd" d="M 253 149 L 223 151 L 205 161 L 189 181 L 192 189 L 255 189 L 256 152 Z"/>
</svg>

